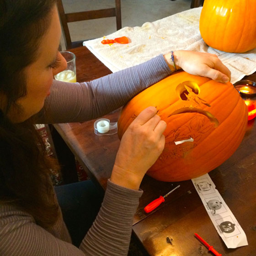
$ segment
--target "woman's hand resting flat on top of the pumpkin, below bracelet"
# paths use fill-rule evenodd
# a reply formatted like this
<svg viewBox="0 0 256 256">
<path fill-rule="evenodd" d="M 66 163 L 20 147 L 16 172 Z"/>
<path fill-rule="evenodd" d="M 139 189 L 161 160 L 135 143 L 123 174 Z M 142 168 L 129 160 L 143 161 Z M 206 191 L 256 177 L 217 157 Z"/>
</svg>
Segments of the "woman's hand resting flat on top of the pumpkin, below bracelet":
<svg viewBox="0 0 256 256">
<path fill-rule="evenodd" d="M 229 69 L 212 53 L 193 51 L 175 51 L 174 62 L 177 69 L 183 69 L 189 74 L 206 76 L 218 82 L 228 82 L 231 77 Z M 164 55 L 167 64 L 173 68 L 171 53 Z"/>
</svg>

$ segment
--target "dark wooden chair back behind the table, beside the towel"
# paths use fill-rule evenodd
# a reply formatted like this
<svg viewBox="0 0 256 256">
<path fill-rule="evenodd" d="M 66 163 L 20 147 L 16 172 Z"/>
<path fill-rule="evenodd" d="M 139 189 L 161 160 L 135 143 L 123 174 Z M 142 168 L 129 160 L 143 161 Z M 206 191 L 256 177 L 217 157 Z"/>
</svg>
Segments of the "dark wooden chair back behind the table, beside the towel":
<svg viewBox="0 0 256 256">
<path fill-rule="evenodd" d="M 85 41 L 85 40 L 76 41 L 76 42 L 71 41 L 69 27 L 68 27 L 69 22 L 86 21 L 86 20 L 100 19 L 100 18 L 107 18 L 107 17 L 116 17 L 117 30 L 121 29 L 122 27 L 121 3 L 120 3 L 120 0 L 115 0 L 115 2 L 116 2 L 116 6 L 113 8 L 65 13 L 62 0 L 57 0 L 59 18 L 63 28 L 63 36 L 64 36 L 66 49 L 80 47 L 83 45 L 83 41 Z"/>
</svg>

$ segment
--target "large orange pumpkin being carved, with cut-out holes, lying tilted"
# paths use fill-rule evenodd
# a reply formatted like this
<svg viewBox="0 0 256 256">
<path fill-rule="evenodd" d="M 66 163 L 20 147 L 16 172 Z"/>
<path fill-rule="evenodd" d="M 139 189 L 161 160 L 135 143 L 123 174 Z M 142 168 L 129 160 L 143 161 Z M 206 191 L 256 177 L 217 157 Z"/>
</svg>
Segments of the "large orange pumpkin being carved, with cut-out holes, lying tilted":
<svg viewBox="0 0 256 256">
<path fill-rule="evenodd" d="M 247 126 L 247 107 L 231 83 L 182 71 L 140 92 L 122 109 L 121 139 L 146 107 L 167 123 L 165 149 L 147 174 L 160 181 L 183 181 L 221 165 L 238 148 Z M 185 140 L 185 142 L 184 142 Z"/>
</svg>

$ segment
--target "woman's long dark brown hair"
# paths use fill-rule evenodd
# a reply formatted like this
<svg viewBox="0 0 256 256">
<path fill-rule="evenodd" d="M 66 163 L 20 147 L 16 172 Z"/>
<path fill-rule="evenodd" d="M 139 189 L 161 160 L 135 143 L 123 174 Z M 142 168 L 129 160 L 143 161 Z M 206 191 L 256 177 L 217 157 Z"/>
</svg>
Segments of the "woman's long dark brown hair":
<svg viewBox="0 0 256 256">
<path fill-rule="evenodd" d="M 32 120 L 12 123 L 7 113 L 27 93 L 24 69 L 39 55 L 55 2 L 0 0 L 0 203 L 25 209 L 43 227 L 59 216 L 49 176 L 55 164 Z"/>
</svg>

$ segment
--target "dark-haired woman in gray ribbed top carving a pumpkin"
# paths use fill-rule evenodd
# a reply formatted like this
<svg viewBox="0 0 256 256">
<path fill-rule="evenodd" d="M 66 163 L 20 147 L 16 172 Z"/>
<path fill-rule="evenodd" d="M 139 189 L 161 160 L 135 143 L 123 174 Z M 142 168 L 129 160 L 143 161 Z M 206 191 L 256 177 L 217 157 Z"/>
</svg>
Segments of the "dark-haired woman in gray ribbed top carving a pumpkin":
<svg viewBox="0 0 256 256">
<path fill-rule="evenodd" d="M 142 111 L 123 135 L 92 226 L 93 218 L 88 220 L 86 214 L 91 208 L 97 212 L 98 206 L 90 202 L 96 188 L 88 182 L 72 185 L 73 192 L 79 187 L 86 197 L 81 216 L 85 228 L 78 231 L 83 235 L 72 237 L 79 248 L 72 245 L 49 180 L 49 170 L 57 164 L 47 158 L 33 124 L 81 122 L 111 112 L 170 75 L 171 53 L 91 82 L 66 84 L 53 81 L 53 75 L 66 67 L 58 52 L 60 36 L 55 0 L 0 1 L 0 252 L 3 256 L 127 255 L 133 214 L 142 194 L 140 182 L 165 144 L 166 124 L 155 107 Z M 176 68 L 191 74 L 223 82 L 230 78 L 215 55 L 176 51 L 173 57 Z M 65 186 L 56 188 L 61 205 L 68 200 L 59 197 Z M 100 196 L 96 198 L 101 203 Z"/>
</svg>

